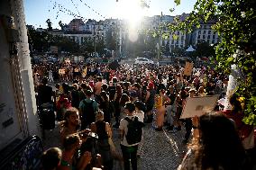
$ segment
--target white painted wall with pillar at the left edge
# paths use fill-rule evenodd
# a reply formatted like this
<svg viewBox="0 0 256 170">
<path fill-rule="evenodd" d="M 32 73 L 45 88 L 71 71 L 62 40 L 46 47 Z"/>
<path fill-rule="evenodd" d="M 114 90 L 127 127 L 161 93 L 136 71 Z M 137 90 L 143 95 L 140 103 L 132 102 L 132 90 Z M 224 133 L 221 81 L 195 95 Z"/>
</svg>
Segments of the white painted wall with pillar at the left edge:
<svg viewBox="0 0 256 170">
<path fill-rule="evenodd" d="M 0 1 L 0 15 L 3 14 L 14 17 L 14 29 L 18 31 L 21 41 L 16 43 L 19 70 L 14 70 L 14 65 L 10 65 L 12 60 L 9 54 L 10 43 L 6 39 L 8 29 L 0 24 L 0 104 L 5 103 L 3 111 L 0 112 L 0 149 L 5 148 L 16 138 L 24 139 L 29 135 L 41 136 L 36 112 L 23 0 Z M 17 71 L 16 77 L 20 76 L 21 81 L 12 81 L 15 71 Z M 4 128 L 2 123 L 11 118 L 14 123 Z"/>
</svg>

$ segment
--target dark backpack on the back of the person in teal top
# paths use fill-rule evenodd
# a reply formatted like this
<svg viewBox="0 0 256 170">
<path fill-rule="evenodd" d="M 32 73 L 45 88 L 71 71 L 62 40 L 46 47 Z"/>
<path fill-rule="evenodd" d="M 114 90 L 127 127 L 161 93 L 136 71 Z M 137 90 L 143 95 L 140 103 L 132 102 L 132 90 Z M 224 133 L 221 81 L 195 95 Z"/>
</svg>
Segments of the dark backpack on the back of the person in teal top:
<svg viewBox="0 0 256 170">
<path fill-rule="evenodd" d="M 92 123 L 96 120 L 96 111 L 94 109 L 94 100 L 92 100 L 90 103 L 87 103 L 85 100 L 83 100 L 84 107 L 83 107 L 83 113 L 82 113 L 82 121 L 87 121 L 89 123 Z"/>
</svg>

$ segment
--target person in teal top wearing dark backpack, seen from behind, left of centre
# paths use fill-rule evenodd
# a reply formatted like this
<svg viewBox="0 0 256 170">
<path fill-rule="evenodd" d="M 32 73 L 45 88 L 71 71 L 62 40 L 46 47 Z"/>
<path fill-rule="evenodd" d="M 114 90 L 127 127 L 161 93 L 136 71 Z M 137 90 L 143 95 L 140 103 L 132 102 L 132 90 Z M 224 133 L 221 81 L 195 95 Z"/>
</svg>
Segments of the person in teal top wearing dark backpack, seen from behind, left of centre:
<svg viewBox="0 0 256 170">
<path fill-rule="evenodd" d="M 87 126 L 96 121 L 96 111 L 98 110 L 98 103 L 91 99 L 92 91 L 87 90 L 87 98 L 79 103 L 79 112 L 81 120 L 81 130 L 87 129 Z"/>
</svg>

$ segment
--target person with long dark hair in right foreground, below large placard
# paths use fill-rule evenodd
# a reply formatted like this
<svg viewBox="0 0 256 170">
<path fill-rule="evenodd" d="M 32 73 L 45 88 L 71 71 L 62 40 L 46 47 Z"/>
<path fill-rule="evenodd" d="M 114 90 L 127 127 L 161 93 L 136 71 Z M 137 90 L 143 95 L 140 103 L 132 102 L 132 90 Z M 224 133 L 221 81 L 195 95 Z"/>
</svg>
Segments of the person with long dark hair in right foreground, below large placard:
<svg viewBox="0 0 256 170">
<path fill-rule="evenodd" d="M 220 113 L 193 118 L 194 139 L 178 170 L 250 169 L 233 121 Z"/>
</svg>

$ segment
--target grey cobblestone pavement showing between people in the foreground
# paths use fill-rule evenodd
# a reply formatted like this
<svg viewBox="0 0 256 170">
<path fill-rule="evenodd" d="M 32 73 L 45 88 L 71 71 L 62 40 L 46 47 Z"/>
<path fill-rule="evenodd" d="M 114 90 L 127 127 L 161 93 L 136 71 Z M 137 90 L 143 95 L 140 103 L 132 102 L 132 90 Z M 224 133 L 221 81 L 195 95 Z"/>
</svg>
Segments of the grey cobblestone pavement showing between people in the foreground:
<svg viewBox="0 0 256 170">
<path fill-rule="evenodd" d="M 170 133 L 167 130 L 156 131 L 151 128 L 151 124 L 144 127 L 142 153 L 138 158 L 139 170 L 173 170 L 177 169 L 182 157 L 187 151 L 187 147 L 182 144 L 185 130 Z M 113 129 L 113 140 L 117 152 L 122 155 L 120 149 L 120 139 L 118 130 Z M 46 130 L 43 139 L 44 148 L 60 147 L 59 127 L 54 130 Z M 123 164 L 114 160 L 114 170 L 122 170 Z"/>
</svg>

